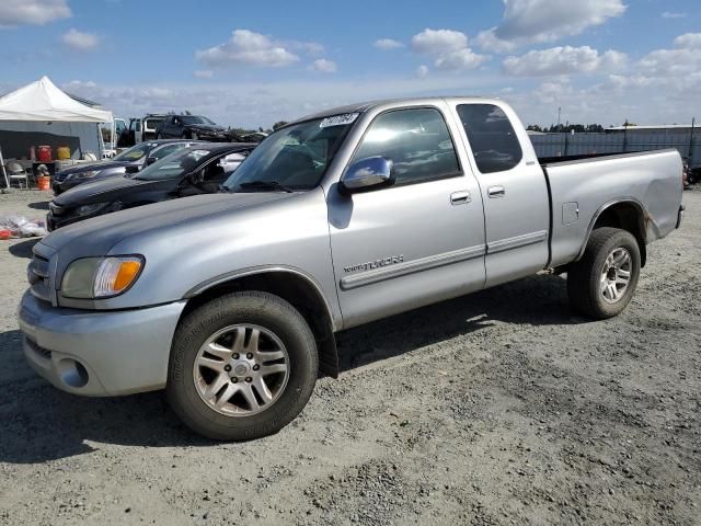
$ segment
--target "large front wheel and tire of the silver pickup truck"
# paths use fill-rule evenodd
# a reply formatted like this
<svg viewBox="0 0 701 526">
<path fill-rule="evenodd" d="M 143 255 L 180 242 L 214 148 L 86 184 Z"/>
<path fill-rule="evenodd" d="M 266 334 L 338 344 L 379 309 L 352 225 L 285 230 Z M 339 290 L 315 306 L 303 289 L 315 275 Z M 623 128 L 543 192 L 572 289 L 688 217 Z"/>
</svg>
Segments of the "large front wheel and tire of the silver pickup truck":
<svg viewBox="0 0 701 526">
<path fill-rule="evenodd" d="M 277 358 L 268 359 L 273 356 Z M 175 413 L 195 433 L 248 441 L 277 433 L 302 411 L 318 369 L 314 336 L 297 309 L 272 294 L 234 293 L 181 321 L 165 391 Z"/>
</svg>

